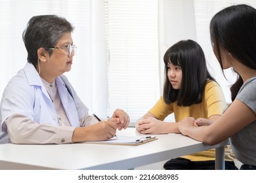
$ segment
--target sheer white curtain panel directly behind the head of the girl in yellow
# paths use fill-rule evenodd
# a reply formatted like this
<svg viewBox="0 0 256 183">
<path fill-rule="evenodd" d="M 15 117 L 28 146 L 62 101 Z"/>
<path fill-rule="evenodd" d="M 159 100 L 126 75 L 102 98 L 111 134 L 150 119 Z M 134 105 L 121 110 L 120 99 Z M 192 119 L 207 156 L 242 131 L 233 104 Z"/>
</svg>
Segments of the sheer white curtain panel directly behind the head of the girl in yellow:
<svg viewBox="0 0 256 183">
<path fill-rule="evenodd" d="M 194 1 L 160 0 L 159 1 L 159 47 L 161 86 L 164 82 L 163 55 L 166 50 L 182 39 L 196 41 L 196 20 Z M 163 87 L 161 87 L 161 92 Z"/>
</svg>

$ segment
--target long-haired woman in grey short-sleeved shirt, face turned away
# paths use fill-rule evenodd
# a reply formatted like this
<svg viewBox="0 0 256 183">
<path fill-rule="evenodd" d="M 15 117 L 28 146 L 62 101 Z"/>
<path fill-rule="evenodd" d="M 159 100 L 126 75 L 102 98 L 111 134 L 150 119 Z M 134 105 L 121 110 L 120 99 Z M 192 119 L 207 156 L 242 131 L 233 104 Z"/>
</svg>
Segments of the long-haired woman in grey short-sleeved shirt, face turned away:
<svg viewBox="0 0 256 183">
<path fill-rule="evenodd" d="M 238 74 L 230 88 L 232 104 L 214 123 L 211 119 L 186 118 L 179 122 L 179 130 L 205 144 L 217 144 L 230 137 L 232 150 L 243 163 L 240 169 L 256 169 L 255 8 L 224 8 L 213 16 L 210 33 L 213 52 L 222 69 L 233 67 Z"/>
</svg>

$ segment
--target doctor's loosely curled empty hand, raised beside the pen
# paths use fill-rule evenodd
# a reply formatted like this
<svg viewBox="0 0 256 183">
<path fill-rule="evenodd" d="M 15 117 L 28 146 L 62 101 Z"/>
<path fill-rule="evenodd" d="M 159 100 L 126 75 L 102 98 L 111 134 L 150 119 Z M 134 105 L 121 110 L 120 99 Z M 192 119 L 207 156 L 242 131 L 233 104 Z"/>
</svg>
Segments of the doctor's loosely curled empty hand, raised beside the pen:
<svg viewBox="0 0 256 183">
<path fill-rule="evenodd" d="M 126 129 L 130 122 L 130 117 L 128 114 L 121 109 L 116 109 L 110 119 L 108 119 L 110 122 L 116 122 L 117 129 Z"/>
</svg>

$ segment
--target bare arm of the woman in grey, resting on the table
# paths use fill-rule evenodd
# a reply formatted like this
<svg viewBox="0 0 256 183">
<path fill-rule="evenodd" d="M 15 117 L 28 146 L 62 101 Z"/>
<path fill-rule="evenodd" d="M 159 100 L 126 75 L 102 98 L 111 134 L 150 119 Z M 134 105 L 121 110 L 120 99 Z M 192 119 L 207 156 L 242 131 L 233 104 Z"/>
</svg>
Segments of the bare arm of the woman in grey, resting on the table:
<svg viewBox="0 0 256 183">
<path fill-rule="evenodd" d="M 236 99 L 213 124 L 197 127 L 194 118 L 186 118 L 179 122 L 179 130 L 183 135 L 213 145 L 228 139 L 255 120 L 255 112 Z"/>
</svg>

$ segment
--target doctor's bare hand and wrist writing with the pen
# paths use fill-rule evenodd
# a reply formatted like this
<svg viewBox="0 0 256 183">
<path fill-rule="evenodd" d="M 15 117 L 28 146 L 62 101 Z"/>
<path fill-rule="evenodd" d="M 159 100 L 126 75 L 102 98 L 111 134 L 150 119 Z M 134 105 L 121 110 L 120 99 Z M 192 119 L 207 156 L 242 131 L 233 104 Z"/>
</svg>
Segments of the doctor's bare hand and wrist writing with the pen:
<svg viewBox="0 0 256 183">
<path fill-rule="evenodd" d="M 105 141 L 116 135 L 117 123 L 100 121 L 87 127 L 76 127 L 72 142 Z"/>
</svg>

